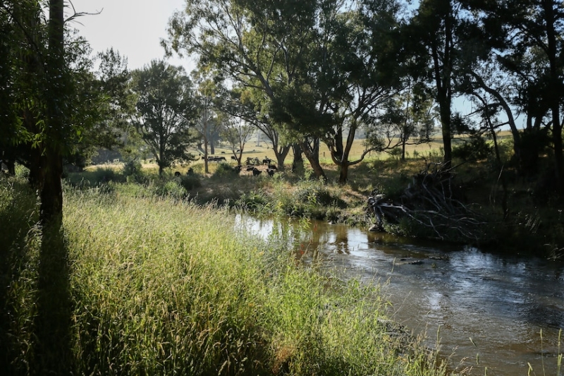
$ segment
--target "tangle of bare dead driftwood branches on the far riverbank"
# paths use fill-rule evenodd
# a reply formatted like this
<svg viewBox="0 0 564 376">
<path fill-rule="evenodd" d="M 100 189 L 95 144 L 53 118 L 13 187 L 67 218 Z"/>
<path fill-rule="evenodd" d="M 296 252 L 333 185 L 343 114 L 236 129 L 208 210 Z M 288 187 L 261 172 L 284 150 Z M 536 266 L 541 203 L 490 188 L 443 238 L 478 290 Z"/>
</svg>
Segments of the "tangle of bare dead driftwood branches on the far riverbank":
<svg viewBox="0 0 564 376">
<path fill-rule="evenodd" d="M 477 212 L 463 201 L 462 190 L 454 183 L 455 167 L 429 163 L 416 174 L 396 202 L 386 200 L 373 190 L 368 198 L 369 210 L 376 217 L 371 231 L 382 231 L 384 220 L 398 223 L 402 219 L 427 229 L 427 238 L 446 241 L 476 242 L 483 237 L 486 224 Z"/>
</svg>

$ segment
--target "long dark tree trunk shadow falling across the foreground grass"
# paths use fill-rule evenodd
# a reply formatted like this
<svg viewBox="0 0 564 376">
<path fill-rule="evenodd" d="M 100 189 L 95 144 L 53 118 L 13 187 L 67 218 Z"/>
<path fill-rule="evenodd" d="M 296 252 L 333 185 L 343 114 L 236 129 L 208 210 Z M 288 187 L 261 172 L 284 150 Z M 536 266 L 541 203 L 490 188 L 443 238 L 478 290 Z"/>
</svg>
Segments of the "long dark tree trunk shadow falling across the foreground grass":
<svg viewBox="0 0 564 376">
<path fill-rule="evenodd" d="M 71 375 L 73 301 L 62 219 L 44 225 L 39 253 L 35 365 L 37 375 Z"/>
</svg>

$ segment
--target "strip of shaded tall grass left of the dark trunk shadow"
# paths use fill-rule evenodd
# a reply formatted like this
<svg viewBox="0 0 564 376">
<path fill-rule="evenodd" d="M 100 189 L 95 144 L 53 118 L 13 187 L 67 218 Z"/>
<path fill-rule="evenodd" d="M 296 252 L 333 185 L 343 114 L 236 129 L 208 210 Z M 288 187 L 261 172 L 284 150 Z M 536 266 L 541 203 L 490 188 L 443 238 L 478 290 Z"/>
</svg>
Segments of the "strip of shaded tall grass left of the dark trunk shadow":
<svg viewBox="0 0 564 376">
<path fill-rule="evenodd" d="M 33 361 L 38 208 L 23 178 L 0 175 L 0 369 L 13 375 L 27 374 Z"/>
</svg>

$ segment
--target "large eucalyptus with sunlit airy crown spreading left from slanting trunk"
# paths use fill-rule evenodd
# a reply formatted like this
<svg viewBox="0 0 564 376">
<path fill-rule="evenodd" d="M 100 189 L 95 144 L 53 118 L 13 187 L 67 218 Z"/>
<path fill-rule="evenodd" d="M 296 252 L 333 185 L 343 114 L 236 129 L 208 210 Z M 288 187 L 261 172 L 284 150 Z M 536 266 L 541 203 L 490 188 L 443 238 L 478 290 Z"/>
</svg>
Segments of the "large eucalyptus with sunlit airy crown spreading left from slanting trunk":
<svg viewBox="0 0 564 376">
<path fill-rule="evenodd" d="M 185 11 L 171 18 L 165 42 L 168 51 L 196 54 L 200 66 L 214 68 L 233 85 L 262 91 L 271 121 L 299 134 L 302 149 L 321 178 L 325 173 L 315 154 L 315 140 L 331 115 L 312 90 L 309 62 L 321 13 L 331 12 L 335 3 L 188 0 Z"/>
</svg>

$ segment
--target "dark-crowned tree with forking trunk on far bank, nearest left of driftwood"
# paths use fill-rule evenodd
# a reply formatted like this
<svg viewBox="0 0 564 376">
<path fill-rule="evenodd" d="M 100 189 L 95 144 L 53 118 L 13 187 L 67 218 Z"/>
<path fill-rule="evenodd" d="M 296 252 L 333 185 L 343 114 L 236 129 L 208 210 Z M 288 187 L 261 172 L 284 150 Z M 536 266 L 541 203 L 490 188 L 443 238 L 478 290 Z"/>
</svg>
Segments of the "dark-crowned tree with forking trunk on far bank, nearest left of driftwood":
<svg viewBox="0 0 564 376">
<path fill-rule="evenodd" d="M 382 146 L 367 142 L 360 157 L 350 160 L 358 129 L 374 133 L 381 126 L 378 114 L 402 86 L 403 64 L 390 59 L 400 11 L 397 1 L 357 1 L 332 18 L 321 35 L 318 55 L 324 58 L 313 61 L 319 66 L 316 87 L 337 115 L 323 140 L 340 167 L 340 183 L 348 180 L 349 166 Z"/>
</svg>

